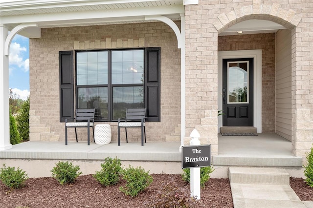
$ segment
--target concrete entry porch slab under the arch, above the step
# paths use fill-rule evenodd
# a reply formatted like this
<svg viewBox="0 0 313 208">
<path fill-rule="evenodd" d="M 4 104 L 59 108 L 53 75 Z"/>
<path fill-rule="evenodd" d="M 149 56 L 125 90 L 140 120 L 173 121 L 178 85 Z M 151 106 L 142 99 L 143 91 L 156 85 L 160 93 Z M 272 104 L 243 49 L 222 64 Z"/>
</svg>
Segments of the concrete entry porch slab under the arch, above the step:
<svg viewBox="0 0 313 208">
<path fill-rule="evenodd" d="M 273 133 L 258 136 L 218 135 L 218 155 L 213 155 L 215 174 L 227 175 L 230 166 L 279 167 L 292 177 L 304 177 L 302 158 L 292 155 L 291 141 Z M 227 168 L 226 168 L 227 167 Z M 220 173 L 217 173 L 220 171 Z"/>
</svg>

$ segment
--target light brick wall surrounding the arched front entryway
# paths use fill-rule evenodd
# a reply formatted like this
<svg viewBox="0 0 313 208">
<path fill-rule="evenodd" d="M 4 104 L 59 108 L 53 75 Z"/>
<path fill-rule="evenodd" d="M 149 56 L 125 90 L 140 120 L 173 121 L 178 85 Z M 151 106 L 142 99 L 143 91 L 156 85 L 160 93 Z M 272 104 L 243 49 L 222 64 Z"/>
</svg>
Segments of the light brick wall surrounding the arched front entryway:
<svg viewBox="0 0 313 208">
<path fill-rule="evenodd" d="M 274 21 L 292 34 L 292 149 L 294 155 L 305 157 L 313 142 L 312 10 L 310 0 L 199 0 L 199 4 L 185 6 L 186 135 L 199 129 L 202 144 L 212 144 L 212 154 L 218 153 L 218 34 L 240 21 Z M 270 90 L 271 73 L 263 74 Z M 262 127 L 272 131 L 271 124 L 270 119 Z"/>
</svg>

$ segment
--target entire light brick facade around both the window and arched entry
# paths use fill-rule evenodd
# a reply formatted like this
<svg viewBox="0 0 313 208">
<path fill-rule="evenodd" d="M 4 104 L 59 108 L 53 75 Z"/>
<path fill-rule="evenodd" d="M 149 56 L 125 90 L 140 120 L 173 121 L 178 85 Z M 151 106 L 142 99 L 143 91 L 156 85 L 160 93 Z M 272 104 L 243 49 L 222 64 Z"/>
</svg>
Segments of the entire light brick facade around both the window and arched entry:
<svg viewBox="0 0 313 208">
<path fill-rule="evenodd" d="M 186 135 L 189 136 L 194 128 L 198 129 L 202 144 L 211 144 L 212 154 L 218 153 L 218 34 L 240 21 L 274 21 L 291 30 L 291 140 L 293 154 L 304 157 L 313 142 L 312 10 L 311 0 L 199 0 L 199 4 L 186 5 Z M 116 45 L 118 40 L 128 42 L 128 39 L 139 41 L 144 38 L 146 47 L 162 47 L 162 122 L 149 124 L 147 131 L 150 135 L 156 133 L 157 138 L 152 140 L 164 140 L 164 135 L 172 132 L 179 123 L 180 50 L 174 32 L 167 25 L 143 23 L 48 28 L 42 29 L 41 39 L 30 40 L 31 140 L 63 140 L 64 137 L 63 124 L 58 123 L 58 51 L 73 50 L 75 41 L 76 44 L 107 42 L 107 38 Z M 272 90 L 271 73 L 268 70 L 263 74 L 267 90 Z M 271 131 L 272 121 L 268 122 L 263 127 Z M 188 142 L 186 137 L 185 143 Z"/>
</svg>

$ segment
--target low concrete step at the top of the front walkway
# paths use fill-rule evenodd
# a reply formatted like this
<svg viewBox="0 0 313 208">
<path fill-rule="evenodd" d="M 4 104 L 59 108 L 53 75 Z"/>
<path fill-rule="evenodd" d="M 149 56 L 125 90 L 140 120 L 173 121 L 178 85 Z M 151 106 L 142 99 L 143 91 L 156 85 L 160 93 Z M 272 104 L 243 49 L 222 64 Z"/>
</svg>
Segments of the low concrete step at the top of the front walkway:
<svg viewBox="0 0 313 208">
<path fill-rule="evenodd" d="M 279 168 L 229 167 L 229 181 L 236 184 L 289 185 L 289 173 Z"/>
</svg>

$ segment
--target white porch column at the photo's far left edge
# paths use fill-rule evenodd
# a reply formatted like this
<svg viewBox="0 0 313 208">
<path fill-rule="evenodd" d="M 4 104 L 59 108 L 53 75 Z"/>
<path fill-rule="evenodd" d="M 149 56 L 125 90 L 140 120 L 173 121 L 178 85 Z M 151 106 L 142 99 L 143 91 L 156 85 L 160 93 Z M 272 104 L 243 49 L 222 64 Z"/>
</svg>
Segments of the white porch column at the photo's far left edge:
<svg viewBox="0 0 313 208">
<path fill-rule="evenodd" d="M 9 56 L 5 54 L 8 28 L 0 24 L 0 151 L 11 149 L 9 119 Z"/>
</svg>

